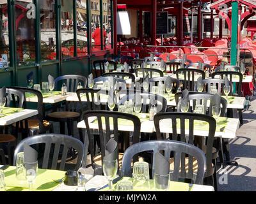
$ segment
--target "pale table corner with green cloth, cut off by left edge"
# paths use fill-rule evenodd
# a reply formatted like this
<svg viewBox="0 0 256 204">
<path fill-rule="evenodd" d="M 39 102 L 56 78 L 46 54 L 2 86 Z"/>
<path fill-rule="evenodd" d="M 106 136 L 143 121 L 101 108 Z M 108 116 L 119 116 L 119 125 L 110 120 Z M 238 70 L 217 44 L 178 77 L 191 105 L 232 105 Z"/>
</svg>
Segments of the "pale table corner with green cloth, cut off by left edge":
<svg viewBox="0 0 256 204">
<path fill-rule="evenodd" d="M 38 111 L 21 108 L 4 108 L 1 114 L 3 115 L 0 115 L 0 126 L 9 126 L 20 120 L 38 115 Z"/>
</svg>

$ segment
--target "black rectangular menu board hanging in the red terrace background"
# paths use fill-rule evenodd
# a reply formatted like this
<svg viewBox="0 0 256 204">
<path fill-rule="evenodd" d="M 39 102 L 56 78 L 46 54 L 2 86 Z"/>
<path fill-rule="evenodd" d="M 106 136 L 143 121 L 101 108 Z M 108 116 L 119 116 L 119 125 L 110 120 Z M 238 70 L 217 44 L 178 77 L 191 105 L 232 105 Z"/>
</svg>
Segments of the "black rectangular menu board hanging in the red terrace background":
<svg viewBox="0 0 256 204">
<path fill-rule="evenodd" d="M 157 12 L 156 34 L 168 34 L 168 11 Z"/>
</svg>

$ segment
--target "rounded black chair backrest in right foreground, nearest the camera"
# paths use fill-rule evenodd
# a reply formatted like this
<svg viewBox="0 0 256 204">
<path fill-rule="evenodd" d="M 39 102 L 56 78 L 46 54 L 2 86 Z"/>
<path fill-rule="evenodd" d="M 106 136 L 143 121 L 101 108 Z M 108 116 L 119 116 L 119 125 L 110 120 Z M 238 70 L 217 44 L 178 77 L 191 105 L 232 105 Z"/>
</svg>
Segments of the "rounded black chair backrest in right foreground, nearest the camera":
<svg viewBox="0 0 256 204">
<path fill-rule="evenodd" d="M 146 142 L 136 143 L 132 145 L 124 152 L 122 163 L 122 175 L 124 177 L 132 177 L 131 163 L 134 163 L 133 157 L 140 152 L 152 151 L 153 164 L 152 164 L 152 178 L 154 178 L 155 160 L 154 156 L 157 152 L 164 152 L 164 157 L 170 159 L 171 154 L 174 155 L 174 171 L 172 181 L 179 181 L 179 179 L 193 179 L 193 174 L 196 174 L 195 184 L 202 184 L 204 180 L 206 159 L 204 152 L 199 148 L 184 142 L 168 141 L 168 140 L 152 140 Z M 189 163 L 189 171 L 185 169 L 184 154 L 187 154 L 189 158 L 195 158 L 198 163 L 198 169 L 193 172 L 191 163 Z M 189 160 L 190 161 L 190 160 Z M 191 160 L 192 161 L 192 160 Z M 181 165 L 180 165 L 181 164 Z"/>
</svg>

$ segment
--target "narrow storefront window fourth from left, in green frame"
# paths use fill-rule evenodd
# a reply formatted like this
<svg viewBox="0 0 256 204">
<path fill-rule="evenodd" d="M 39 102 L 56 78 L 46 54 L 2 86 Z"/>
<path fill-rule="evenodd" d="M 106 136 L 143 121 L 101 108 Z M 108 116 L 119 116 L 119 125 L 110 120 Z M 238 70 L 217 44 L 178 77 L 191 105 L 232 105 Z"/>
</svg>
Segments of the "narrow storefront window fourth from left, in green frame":
<svg viewBox="0 0 256 204">
<path fill-rule="evenodd" d="M 74 57 L 73 1 L 61 1 L 61 52 L 63 58 Z"/>
</svg>

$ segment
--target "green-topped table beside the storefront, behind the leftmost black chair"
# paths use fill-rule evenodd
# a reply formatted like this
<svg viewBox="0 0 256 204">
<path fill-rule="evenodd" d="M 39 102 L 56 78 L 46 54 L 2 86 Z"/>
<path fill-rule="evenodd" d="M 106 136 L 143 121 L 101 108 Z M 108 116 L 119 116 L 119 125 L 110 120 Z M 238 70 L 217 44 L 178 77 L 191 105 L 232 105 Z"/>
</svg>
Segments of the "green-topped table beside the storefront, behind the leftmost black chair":
<svg viewBox="0 0 256 204">
<path fill-rule="evenodd" d="M 59 103 L 61 101 L 65 101 L 66 98 L 74 93 L 68 92 L 65 96 L 61 96 L 61 91 L 53 91 L 51 93 L 43 93 L 43 103 Z M 76 94 L 76 93 L 75 93 Z M 26 95 L 26 101 L 27 102 L 37 102 L 37 97 L 33 94 L 27 94 Z"/>
</svg>

